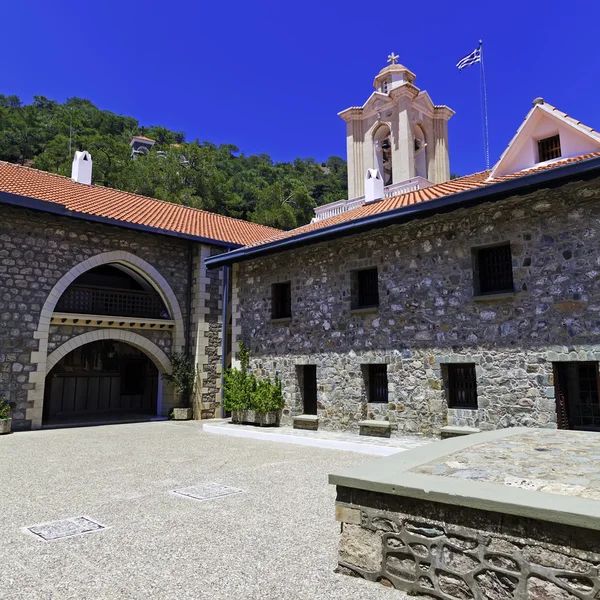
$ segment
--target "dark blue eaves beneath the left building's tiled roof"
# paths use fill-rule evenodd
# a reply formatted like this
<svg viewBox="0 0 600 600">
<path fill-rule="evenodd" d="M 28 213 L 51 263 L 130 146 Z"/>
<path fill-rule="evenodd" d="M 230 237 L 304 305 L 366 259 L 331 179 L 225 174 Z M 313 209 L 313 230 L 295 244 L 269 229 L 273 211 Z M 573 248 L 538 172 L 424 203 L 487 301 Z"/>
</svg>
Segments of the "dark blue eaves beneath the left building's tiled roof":
<svg viewBox="0 0 600 600">
<path fill-rule="evenodd" d="M 41 212 L 51 213 L 63 217 L 71 217 L 74 219 L 81 219 L 84 221 L 92 221 L 95 223 L 103 223 L 105 225 L 113 225 L 115 227 L 124 227 L 126 229 L 135 229 L 138 231 L 145 231 L 147 233 L 155 233 L 159 235 L 166 235 L 169 237 L 176 237 L 180 239 L 191 240 L 200 243 L 207 243 L 213 246 L 224 246 L 226 248 L 242 248 L 242 244 L 236 244 L 235 242 L 227 242 L 225 240 L 216 240 L 213 238 L 207 238 L 198 235 L 192 235 L 189 233 L 182 233 L 179 231 L 173 231 L 171 229 L 161 229 L 159 227 L 152 227 L 150 225 L 143 225 L 141 223 L 132 223 L 130 221 L 122 221 L 120 219 L 113 219 L 111 217 L 102 217 L 99 215 L 92 215 L 90 213 L 84 213 L 74 210 L 69 210 L 64 204 L 58 202 L 50 202 L 48 200 L 40 200 L 39 198 L 31 198 L 30 196 L 21 196 L 19 194 L 12 194 L 10 192 L 0 191 L 0 204 L 8 204 L 10 206 L 16 206 L 19 208 L 28 208 L 30 210 L 38 210 Z"/>
</svg>

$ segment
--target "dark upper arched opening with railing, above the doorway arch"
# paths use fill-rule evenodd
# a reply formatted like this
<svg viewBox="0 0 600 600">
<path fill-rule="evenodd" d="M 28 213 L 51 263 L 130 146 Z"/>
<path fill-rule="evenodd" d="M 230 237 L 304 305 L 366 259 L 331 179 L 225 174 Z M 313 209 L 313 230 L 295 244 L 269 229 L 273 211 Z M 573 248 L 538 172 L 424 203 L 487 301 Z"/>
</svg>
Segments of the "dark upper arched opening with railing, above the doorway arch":
<svg viewBox="0 0 600 600">
<path fill-rule="evenodd" d="M 136 271 L 109 263 L 86 271 L 65 290 L 56 312 L 114 317 L 169 319 L 152 285 Z"/>
</svg>

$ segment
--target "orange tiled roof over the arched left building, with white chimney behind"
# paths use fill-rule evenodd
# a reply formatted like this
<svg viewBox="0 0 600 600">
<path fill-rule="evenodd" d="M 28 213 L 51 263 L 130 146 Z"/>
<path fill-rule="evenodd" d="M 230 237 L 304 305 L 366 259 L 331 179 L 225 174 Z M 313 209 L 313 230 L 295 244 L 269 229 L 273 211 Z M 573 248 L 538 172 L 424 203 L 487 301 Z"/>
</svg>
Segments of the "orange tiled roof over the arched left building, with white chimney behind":
<svg viewBox="0 0 600 600">
<path fill-rule="evenodd" d="M 0 192 L 52 202 L 68 211 L 236 245 L 256 244 L 279 229 L 180 204 L 77 183 L 68 177 L 0 161 Z"/>
</svg>

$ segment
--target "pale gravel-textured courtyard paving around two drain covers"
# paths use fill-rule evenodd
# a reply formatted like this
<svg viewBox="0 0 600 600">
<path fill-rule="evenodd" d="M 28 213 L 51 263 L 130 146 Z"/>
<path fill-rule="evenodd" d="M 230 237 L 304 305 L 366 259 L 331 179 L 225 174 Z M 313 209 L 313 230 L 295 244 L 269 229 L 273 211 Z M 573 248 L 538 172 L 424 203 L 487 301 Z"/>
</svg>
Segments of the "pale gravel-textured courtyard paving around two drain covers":
<svg viewBox="0 0 600 600">
<path fill-rule="evenodd" d="M 327 474 L 372 460 L 198 423 L 0 437 L 0 598 L 404 598 L 333 572 L 339 523 Z M 170 493 L 203 482 L 243 493 Z M 54 541 L 24 529 L 82 516 L 105 529 Z"/>
</svg>

